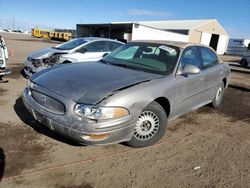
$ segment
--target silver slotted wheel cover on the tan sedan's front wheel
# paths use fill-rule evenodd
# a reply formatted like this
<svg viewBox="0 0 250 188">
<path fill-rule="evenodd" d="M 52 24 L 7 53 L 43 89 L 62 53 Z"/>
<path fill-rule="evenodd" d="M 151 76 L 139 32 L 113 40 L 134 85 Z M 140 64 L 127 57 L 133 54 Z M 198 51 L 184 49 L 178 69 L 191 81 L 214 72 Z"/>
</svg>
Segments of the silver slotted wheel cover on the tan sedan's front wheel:
<svg viewBox="0 0 250 188">
<path fill-rule="evenodd" d="M 154 112 L 144 111 L 137 119 L 134 137 L 138 140 L 148 140 L 157 133 L 159 126 L 158 116 Z"/>
</svg>

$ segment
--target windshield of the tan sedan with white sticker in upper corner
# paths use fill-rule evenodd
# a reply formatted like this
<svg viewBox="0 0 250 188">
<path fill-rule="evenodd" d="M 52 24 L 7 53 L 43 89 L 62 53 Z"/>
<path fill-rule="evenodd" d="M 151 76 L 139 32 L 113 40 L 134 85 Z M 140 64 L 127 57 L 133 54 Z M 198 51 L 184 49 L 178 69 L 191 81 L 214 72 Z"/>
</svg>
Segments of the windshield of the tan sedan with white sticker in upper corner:
<svg viewBox="0 0 250 188">
<path fill-rule="evenodd" d="M 132 42 L 116 49 L 103 61 L 155 74 L 170 74 L 174 71 L 179 48 L 171 45 Z"/>
</svg>

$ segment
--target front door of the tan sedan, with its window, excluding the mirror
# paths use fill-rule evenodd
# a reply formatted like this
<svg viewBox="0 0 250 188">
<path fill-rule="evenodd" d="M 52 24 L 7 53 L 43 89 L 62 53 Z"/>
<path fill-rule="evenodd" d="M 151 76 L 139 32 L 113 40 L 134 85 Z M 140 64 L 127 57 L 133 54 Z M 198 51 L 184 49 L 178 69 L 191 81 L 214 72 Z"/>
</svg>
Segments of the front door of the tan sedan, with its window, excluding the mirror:
<svg viewBox="0 0 250 188">
<path fill-rule="evenodd" d="M 180 69 L 186 64 L 191 64 L 202 69 L 202 60 L 196 46 L 187 48 L 180 60 Z M 180 116 L 190 110 L 199 107 L 202 103 L 202 93 L 204 92 L 204 77 L 201 71 L 197 74 L 176 76 L 176 100 L 174 116 Z"/>
</svg>

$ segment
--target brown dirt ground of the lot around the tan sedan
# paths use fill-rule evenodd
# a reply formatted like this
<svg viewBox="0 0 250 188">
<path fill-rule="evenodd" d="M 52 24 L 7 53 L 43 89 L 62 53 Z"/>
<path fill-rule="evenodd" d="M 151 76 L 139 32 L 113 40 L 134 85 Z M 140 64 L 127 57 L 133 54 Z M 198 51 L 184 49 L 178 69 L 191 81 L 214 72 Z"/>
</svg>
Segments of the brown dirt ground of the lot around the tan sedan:
<svg viewBox="0 0 250 188">
<path fill-rule="evenodd" d="M 0 84 L 0 187 L 250 187 L 250 74 L 232 72 L 218 109 L 168 124 L 156 145 L 80 146 L 36 122 L 20 98 L 27 55 L 56 45 L 0 33 L 14 56 Z"/>
</svg>

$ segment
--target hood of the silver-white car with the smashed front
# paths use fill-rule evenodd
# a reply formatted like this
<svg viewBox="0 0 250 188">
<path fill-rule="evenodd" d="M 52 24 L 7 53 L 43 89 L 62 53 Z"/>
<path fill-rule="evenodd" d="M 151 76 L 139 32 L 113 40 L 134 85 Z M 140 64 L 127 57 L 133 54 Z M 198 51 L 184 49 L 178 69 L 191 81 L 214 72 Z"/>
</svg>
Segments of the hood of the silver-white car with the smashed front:
<svg viewBox="0 0 250 188">
<path fill-rule="evenodd" d="M 29 55 L 32 59 L 43 59 L 50 57 L 52 54 L 66 54 L 68 53 L 68 50 L 58 50 L 55 48 L 44 48 L 38 51 L 35 51 Z"/>
</svg>

